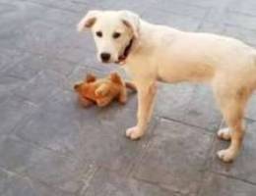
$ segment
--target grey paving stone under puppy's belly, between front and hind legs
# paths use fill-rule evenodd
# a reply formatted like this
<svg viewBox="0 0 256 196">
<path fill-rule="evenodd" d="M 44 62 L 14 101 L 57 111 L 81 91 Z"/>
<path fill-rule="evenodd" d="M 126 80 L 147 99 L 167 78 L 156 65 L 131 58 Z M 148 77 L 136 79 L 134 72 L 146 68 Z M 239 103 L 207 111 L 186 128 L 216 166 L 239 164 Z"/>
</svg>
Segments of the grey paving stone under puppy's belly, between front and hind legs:
<svg viewBox="0 0 256 196">
<path fill-rule="evenodd" d="M 162 104 L 165 103 L 165 104 Z M 222 115 L 209 86 L 191 83 L 160 86 L 156 101 L 157 116 L 216 130 Z"/>
</svg>

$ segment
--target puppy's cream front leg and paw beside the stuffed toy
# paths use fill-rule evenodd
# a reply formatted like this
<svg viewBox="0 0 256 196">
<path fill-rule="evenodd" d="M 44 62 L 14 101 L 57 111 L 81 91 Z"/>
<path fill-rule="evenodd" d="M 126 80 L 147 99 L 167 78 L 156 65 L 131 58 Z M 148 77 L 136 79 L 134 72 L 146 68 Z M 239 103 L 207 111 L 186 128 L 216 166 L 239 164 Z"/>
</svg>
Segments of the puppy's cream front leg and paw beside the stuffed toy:
<svg viewBox="0 0 256 196">
<path fill-rule="evenodd" d="M 137 85 L 138 88 L 138 113 L 137 125 L 126 130 L 126 136 L 131 139 L 139 139 L 147 130 L 147 125 L 152 116 L 154 97 L 156 95 L 156 83 Z"/>
</svg>

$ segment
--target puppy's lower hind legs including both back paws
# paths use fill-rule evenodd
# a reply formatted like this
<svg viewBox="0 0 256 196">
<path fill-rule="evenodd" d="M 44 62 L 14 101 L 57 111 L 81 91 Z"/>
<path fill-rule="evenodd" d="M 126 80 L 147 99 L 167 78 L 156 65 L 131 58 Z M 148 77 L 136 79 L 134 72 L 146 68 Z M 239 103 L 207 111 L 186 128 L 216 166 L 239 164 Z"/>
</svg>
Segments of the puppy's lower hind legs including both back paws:
<svg viewBox="0 0 256 196">
<path fill-rule="evenodd" d="M 231 140 L 229 147 L 219 151 L 218 156 L 224 162 L 231 162 L 237 156 L 242 145 L 244 108 L 250 93 L 242 87 L 232 89 L 231 86 L 224 85 L 215 85 L 214 91 L 224 121 L 228 126 L 226 129 L 221 129 L 218 134 L 226 140 Z"/>
</svg>

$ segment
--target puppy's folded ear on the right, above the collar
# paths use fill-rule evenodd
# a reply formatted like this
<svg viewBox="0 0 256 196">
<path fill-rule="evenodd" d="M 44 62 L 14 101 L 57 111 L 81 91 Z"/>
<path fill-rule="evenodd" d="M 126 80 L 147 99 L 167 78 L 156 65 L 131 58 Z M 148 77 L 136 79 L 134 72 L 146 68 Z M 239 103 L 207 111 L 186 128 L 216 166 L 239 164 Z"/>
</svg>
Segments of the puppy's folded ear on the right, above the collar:
<svg viewBox="0 0 256 196">
<path fill-rule="evenodd" d="M 131 28 L 135 38 L 139 36 L 140 17 L 131 11 L 120 11 L 121 20 L 124 25 Z"/>
</svg>

